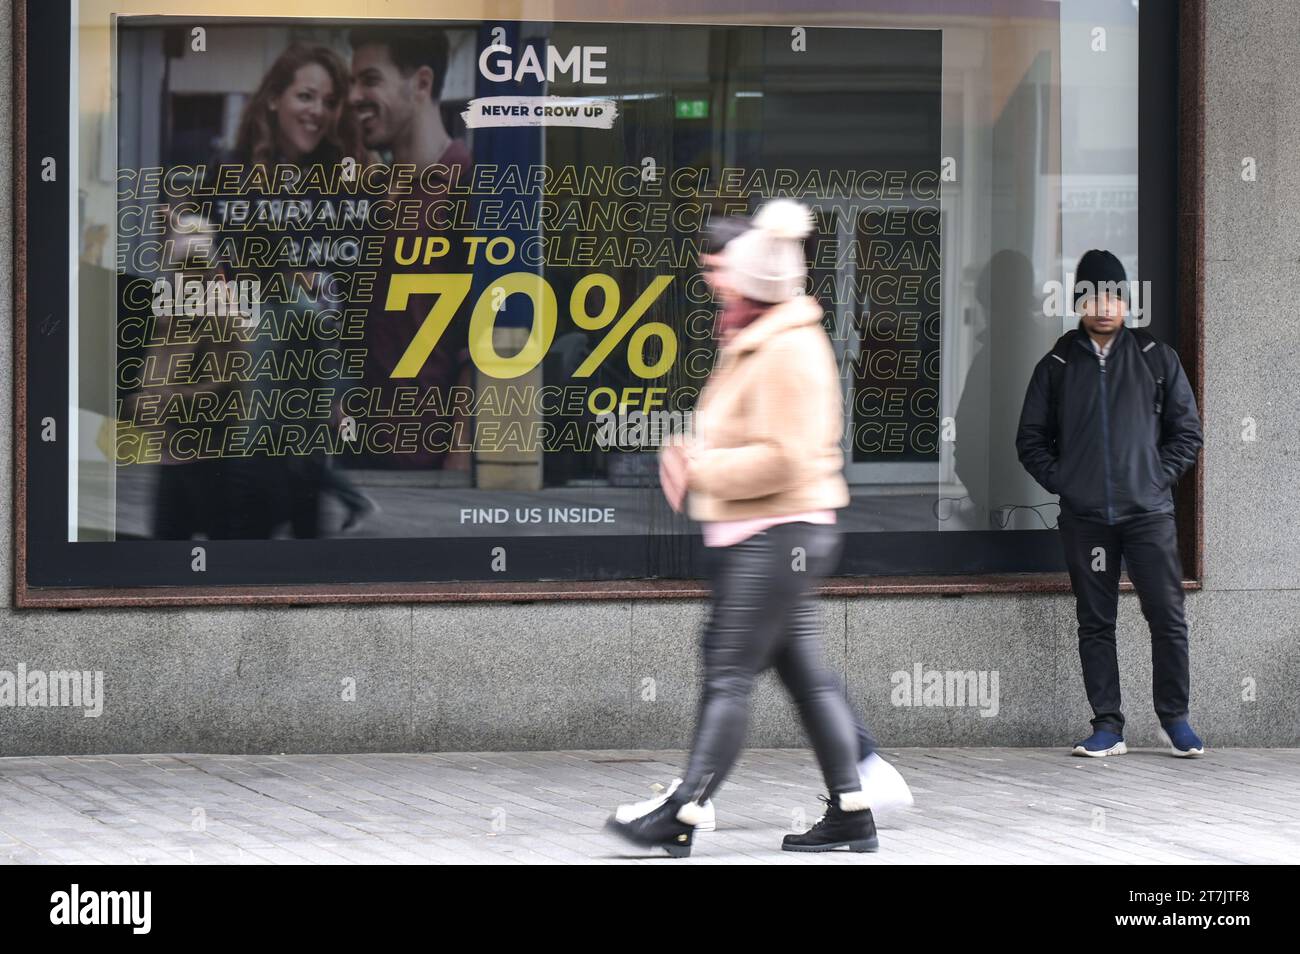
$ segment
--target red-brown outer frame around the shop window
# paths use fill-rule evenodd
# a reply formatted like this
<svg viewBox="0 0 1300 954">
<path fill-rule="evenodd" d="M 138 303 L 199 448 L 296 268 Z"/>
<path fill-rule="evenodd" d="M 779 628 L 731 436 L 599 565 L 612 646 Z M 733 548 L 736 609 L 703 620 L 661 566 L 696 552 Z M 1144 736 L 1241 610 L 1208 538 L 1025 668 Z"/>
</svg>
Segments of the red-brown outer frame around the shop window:
<svg viewBox="0 0 1300 954">
<path fill-rule="evenodd" d="M 13 29 L 14 104 L 14 602 L 21 608 L 162 607 L 326 603 L 530 602 L 564 599 L 698 599 L 699 580 L 619 580 L 564 582 L 324 584 L 298 586 L 31 587 L 27 585 L 27 103 L 26 4 L 16 3 Z M 1180 0 L 1178 27 L 1178 307 L 1179 355 L 1204 400 L 1204 143 L 1205 6 Z M 1184 589 L 1200 589 L 1204 572 L 1204 468 L 1179 483 L 1176 516 Z M 1122 584 L 1131 587 L 1127 580 Z M 965 595 L 982 593 L 1063 593 L 1065 573 L 836 578 L 822 586 L 831 597 Z"/>
</svg>

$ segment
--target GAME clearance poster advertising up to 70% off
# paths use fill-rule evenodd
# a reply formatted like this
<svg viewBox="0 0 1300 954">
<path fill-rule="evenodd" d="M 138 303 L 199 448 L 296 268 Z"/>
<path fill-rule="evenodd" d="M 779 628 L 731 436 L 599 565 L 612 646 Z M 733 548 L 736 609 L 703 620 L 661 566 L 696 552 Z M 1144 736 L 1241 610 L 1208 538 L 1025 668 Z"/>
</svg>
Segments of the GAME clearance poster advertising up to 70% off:
<svg viewBox="0 0 1300 954">
<path fill-rule="evenodd" d="M 688 534 L 656 451 L 716 355 L 701 256 L 777 196 L 815 212 L 850 473 L 939 459 L 939 31 L 114 31 L 112 334 L 81 356 L 112 539 Z"/>
</svg>

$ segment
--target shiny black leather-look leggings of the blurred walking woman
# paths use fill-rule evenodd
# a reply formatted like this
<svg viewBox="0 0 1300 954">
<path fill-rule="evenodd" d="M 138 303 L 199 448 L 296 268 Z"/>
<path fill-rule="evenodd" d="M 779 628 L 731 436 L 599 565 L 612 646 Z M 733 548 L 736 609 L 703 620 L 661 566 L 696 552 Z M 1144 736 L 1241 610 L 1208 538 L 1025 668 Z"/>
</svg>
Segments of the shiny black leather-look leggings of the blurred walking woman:
<svg viewBox="0 0 1300 954">
<path fill-rule="evenodd" d="M 745 742 L 754 681 L 768 667 L 794 699 L 827 789 L 836 795 L 861 788 L 861 741 L 840 677 L 826 665 L 814 591 L 841 547 L 835 526 L 797 522 L 719 548 L 699 716 L 675 801 L 710 798 L 731 772 Z"/>
</svg>

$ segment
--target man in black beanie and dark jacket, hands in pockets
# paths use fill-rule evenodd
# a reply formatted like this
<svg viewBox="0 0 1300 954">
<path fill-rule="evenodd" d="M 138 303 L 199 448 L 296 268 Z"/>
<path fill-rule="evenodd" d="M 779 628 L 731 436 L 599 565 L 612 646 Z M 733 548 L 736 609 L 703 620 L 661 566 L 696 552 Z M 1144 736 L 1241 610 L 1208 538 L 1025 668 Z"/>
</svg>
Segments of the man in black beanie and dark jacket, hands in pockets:
<svg viewBox="0 0 1300 954">
<path fill-rule="evenodd" d="M 1030 380 L 1015 438 L 1020 464 L 1061 498 L 1061 542 L 1079 617 L 1092 734 L 1075 755 L 1123 755 L 1115 615 L 1119 561 L 1150 626 L 1152 695 L 1174 755 L 1202 755 L 1187 721 L 1187 623 L 1174 529 L 1178 478 L 1196 463 L 1201 421 L 1173 348 L 1124 328 L 1127 277 L 1110 252 L 1079 260 L 1079 328 Z"/>
</svg>

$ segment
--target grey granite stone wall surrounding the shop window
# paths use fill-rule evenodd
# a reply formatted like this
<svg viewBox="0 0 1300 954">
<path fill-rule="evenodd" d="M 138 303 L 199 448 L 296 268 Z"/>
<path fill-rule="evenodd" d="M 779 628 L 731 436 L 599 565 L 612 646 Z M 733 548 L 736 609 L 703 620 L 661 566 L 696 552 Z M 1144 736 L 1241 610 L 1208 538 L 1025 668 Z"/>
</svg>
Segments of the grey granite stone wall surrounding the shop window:
<svg viewBox="0 0 1300 954">
<path fill-rule="evenodd" d="M 10 9 L 0 69 L 12 70 Z M 1213 745 L 1300 745 L 1300 4 L 1208 4 L 1205 576 L 1192 715 Z M 0 138 L 12 142 L 9 90 Z M 1253 157 L 1258 175 L 1240 175 Z M 0 152 L 0 181 L 12 156 Z M 12 420 L 12 194 L 0 198 L 0 420 Z M 1258 439 L 1242 439 L 1242 420 Z M 0 669 L 103 669 L 105 707 L 0 708 L 0 755 L 667 747 L 689 741 L 698 602 L 14 611 L 0 428 Z M 1149 639 L 1122 599 L 1128 736 L 1152 742 Z M 1062 745 L 1087 728 L 1067 595 L 824 603 L 832 663 L 881 741 Z M 997 707 L 902 701 L 896 673 L 997 673 Z M 355 701 L 344 701 L 354 680 Z M 987 686 L 991 689 L 991 686 Z M 924 699 L 911 699 L 923 702 Z M 978 702 L 978 701 L 976 701 Z M 751 742 L 796 745 L 764 681 Z"/>
</svg>

